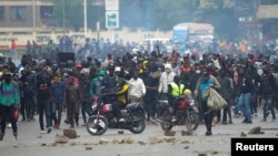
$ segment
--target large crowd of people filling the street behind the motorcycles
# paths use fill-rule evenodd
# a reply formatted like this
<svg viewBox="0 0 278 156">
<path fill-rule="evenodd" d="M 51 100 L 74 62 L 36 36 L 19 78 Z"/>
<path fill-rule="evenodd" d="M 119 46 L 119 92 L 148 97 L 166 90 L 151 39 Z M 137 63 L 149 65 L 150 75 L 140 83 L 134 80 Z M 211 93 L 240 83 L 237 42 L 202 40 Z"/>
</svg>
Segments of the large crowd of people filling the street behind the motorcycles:
<svg viewBox="0 0 278 156">
<path fill-rule="evenodd" d="M 146 122 L 151 124 L 158 115 L 158 102 L 175 98 L 181 86 L 198 105 L 199 123 L 206 125 L 206 135 L 212 135 L 214 124 L 232 124 L 234 117 L 244 116 L 242 123 L 251 124 L 259 106 L 264 107 L 261 122 L 267 122 L 269 114 L 276 121 L 278 49 L 271 61 L 269 55 L 254 51 L 246 58 L 240 52 L 208 51 L 199 53 L 198 59 L 193 53 L 180 55 L 176 50 L 166 55 L 159 46 L 150 52 L 139 49 L 125 49 L 120 55 L 113 52 L 106 53 L 103 61 L 89 55 L 64 65 L 53 64 L 49 59 L 37 61 L 30 54 L 22 56 L 18 70 L 6 63 L 1 67 L 0 138 L 7 124 L 11 124 L 17 136 L 17 122 L 36 121 L 34 115 L 39 116 L 41 133 L 60 128 L 64 110 L 64 123 L 70 128 L 80 126 L 80 113 L 86 124 L 93 114 L 91 104 L 99 95 L 106 96 L 106 103 L 112 103 L 118 122 L 125 122 L 120 110 L 128 103 L 142 102 Z M 227 101 L 225 108 L 206 113 L 208 87 L 216 89 Z M 19 115 L 14 115 L 17 110 Z"/>
</svg>

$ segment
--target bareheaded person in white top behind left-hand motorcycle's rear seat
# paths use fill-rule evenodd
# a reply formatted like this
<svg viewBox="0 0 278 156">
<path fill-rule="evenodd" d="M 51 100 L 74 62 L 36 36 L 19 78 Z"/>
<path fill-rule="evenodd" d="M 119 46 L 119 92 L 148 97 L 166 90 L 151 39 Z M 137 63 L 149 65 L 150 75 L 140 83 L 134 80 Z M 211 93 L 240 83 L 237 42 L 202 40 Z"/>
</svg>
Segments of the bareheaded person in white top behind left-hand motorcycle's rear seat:
<svg viewBox="0 0 278 156">
<path fill-rule="evenodd" d="M 142 101 L 146 95 L 146 86 L 142 79 L 139 77 L 139 72 L 135 71 L 132 77 L 128 81 L 130 103 L 138 103 Z"/>
</svg>

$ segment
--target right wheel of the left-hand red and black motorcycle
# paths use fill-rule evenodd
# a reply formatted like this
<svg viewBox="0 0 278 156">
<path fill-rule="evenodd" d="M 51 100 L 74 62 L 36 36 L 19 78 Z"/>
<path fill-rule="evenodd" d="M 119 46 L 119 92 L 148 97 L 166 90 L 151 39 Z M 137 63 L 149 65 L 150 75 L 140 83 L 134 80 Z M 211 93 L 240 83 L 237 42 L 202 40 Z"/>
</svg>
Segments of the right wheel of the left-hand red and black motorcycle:
<svg viewBox="0 0 278 156">
<path fill-rule="evenodd" d="M 130 123 L 131 127 L 129 131 L 133 134 L 142 133 L 146 128 L 145 116 L 139 113 L 136 113 L 132 114 L 130 117 L 131 117 L 131 123 Z"/>
</svg>

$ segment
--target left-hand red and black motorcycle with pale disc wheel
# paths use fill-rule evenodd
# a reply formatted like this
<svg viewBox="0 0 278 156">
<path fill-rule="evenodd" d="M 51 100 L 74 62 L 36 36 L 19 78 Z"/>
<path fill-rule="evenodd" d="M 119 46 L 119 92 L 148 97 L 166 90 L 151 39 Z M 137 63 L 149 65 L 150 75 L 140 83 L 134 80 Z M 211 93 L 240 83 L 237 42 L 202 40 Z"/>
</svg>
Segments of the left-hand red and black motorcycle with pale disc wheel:
<svg viewBox="0 0 278 156">
<path fill-rule="evenodd" d="M 142 103 L 130 103 L 121 114 L 125 122 L 118 122 L 112 104 L 106 104 L 101 97 L 95 97 L 92 104 L 93 115 L 88 118 L 87 132 L 91 135 L 102 135 L 109 128 L 129 129 L 133 134 L 140 134 L 146 128 Z"/>
</svg>

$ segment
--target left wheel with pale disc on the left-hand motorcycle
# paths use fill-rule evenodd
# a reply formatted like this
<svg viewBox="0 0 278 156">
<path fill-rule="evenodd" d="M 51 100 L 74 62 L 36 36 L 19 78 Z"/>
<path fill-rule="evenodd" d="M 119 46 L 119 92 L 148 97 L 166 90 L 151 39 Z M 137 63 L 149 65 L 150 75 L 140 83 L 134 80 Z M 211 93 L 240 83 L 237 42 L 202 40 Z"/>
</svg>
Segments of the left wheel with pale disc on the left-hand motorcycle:
<svg viewBox="0 0 278 156">
<path fill-rule="evenodd" d="M 108 122 L 102 117 L 90 117 L 87 122 L 87 132 L 90 135 L 102 135 L 107 132 Z"/>
</svg>

